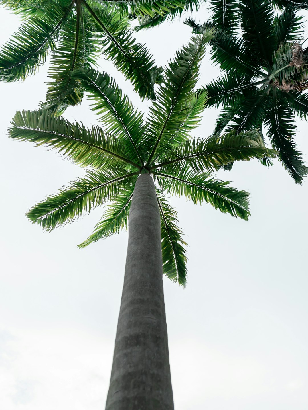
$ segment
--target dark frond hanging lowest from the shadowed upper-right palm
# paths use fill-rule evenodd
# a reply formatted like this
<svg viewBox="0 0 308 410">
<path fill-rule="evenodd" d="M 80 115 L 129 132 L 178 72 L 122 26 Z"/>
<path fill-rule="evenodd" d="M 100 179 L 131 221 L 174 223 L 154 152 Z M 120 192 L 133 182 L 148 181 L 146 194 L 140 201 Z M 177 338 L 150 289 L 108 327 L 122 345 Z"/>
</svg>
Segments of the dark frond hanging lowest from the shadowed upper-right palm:
<svg viewBox="0 0 308 410">
<path fill-rule="evenodd" d="M 281 93 L 282 94 L 282 93 Z M 271 109 L 267 110 L 265 124 L 268 126 L 268 136 L 272 146 L 278 151 L 283 166 L 295 182 L 301 184 L 307 175 L 308 168 L 301 157 L 294 141 L 296 125 L 292 120 L 292 111 L 287 106 L 283 94 L 274 90 Z"/>
</svg>

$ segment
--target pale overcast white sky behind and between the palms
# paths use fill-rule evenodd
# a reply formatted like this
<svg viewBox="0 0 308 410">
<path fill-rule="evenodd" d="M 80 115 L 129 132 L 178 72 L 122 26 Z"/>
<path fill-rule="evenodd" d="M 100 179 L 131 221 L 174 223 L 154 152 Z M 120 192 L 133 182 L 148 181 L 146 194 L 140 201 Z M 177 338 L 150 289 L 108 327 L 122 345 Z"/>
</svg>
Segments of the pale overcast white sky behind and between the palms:
<svg viewBox="0 0 308 410">
<path fill-rule="evenodd" d="M 207 19 L 205 8 L 194 15 Z M 18 19 L 2 8 L 0 16 L 2 44 Z M 136 34 L 158 65 L 190 36 L 182 21 Z M 112 64 L 99 64 L 147 112 L 150 103 L 140 101 Z M 0 408 L 99 410 L 108 391 L 128 234 L 79 250 L 101 208 L 51 233 L 26 219 L 32 205 L 84 173 L 45 147 L 7 137 L 17 110 L 45 100 L 47 72 L 48 62 L 24 82 L 0 83 Z M 207 54 L 198 85 L 218 75 Z M 86 100 L 64 115 L 98 124 Z M 210 135 L 217 115 L 205 110 L 192 135 Z M 297 125 L 307 154 L 308 125 Z M 269 169 L 238 162 L 218 177 L 251 193 L 248 222 L 170 198 L 189 244 L 186 288 L 164 277 L 175 410 L 307 410 L 307 181 L 296 185 L 277 160 Z"/>
</svg>

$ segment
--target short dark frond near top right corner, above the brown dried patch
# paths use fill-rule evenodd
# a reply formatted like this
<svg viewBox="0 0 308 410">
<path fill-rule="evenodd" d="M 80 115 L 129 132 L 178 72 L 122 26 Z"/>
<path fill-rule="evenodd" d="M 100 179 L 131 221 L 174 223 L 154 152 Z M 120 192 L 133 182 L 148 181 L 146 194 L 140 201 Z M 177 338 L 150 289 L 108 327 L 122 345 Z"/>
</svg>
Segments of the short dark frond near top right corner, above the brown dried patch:
<svg viewBox="0 0 308 410">
<path fill-rule="evenodd" d="M 285 41 L 299 41 L 303 34 L 300 30 L 302 17 L 297 16 L 292 5 L 288 5 L 282 14 L 274 19 L 274 33 L 276 37 L 276 48 Z"/>
</svg>

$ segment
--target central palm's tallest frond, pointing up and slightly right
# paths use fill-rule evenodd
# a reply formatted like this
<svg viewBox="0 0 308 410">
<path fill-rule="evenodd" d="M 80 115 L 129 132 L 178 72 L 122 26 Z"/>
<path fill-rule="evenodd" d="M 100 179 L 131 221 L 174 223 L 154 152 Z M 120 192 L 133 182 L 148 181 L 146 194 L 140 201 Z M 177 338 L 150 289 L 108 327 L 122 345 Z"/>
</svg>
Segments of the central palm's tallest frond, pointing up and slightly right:
<svg viewBox="0 0 308 410">
<path fill-rule="evenodd" d="M 186 138 L 185 134 L 178 131 L 186 121 L 187 112 L 190 111 L 190 100 L 194 98 L 192 91 L 198 80 L 199 64 L 205 53 L 205 44 L 211 37 L 211 30 L 193 37 L 168 64 L 163 85 L 157 91 L 157 100 L 150 108 L 148 129 L 152 139 L 149 143 L 153 148 L 147 165 L 151 164 L 154 155 L 156 157 L 172 144 Z M 171 136 L 174 138 L 170 138 Z"/>
</svg>

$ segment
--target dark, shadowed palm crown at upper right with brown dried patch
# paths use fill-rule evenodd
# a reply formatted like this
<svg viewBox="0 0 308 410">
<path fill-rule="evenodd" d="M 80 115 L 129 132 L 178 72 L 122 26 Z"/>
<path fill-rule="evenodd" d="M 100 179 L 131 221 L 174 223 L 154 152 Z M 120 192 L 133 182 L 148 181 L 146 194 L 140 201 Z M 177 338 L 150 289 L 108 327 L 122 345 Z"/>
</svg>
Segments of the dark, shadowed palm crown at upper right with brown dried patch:
<svg viewBox="0 0 308 410">
<path fill-rule="evenodd" d="M 308 49 L 303 48 L 301 18 L 294 3 L 286 2 L 279 16 L 266 0 L 227 1 L 220 8 L 222 1 L 211 3 L 212 21 L 186 23 L 199 33 L 216 29 L 212 59 L 225 74 L 205 86 L 209 106 L 223 105 L 215 132 L 225 127 L 241 132 L 264 125 L 279 160 L 302 183 L 308 169 L 294 141 L 294 119 L 308 114 Z"/>
</svg>

